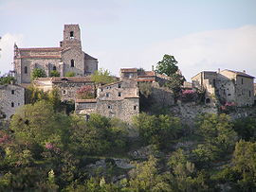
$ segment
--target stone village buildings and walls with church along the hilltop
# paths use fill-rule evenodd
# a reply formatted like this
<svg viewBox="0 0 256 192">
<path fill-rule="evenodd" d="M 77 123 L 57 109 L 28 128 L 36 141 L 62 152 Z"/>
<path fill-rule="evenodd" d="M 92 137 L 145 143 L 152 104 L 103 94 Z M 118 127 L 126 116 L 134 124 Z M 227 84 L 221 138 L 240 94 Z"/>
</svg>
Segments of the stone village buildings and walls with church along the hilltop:
<svg viewBox="0 0 256 192">
<path fill-rule="evenodd" d="M 46 78 L 31 81 L 35 69 L 42 69 Z M 74 102 L 74 113 L 87 119 L 91 113 L 100 113 L 129 122 L 133 115 L 143 111 L 141 102 L 148 97 L 154 107 L 169 107 L 174 113 L 176 110 L 172 106 L 180 105 L 182 101 L 197 102 L 200 99 L 214 113 L 227 107 L 251 107 L 255 102 L 254 77 L 246 71 L 199 72 L 192 77 L 192 82 L 184 81 L 181 95 L 175 98 L 172 90 L 165 86 L 171 79 L 154 69 L 121 68 L 119 77 L 113 77 L 113 82 L 97 84 L 91 77 L 98 69 L 98 60 L 82 51 L 79 25 L 64 25 L 64 39 L 59 47 L 19 48 L 14 44 L 12 76 L 15 80 L 0 87 L 2 116 L 9 119 L 16 108 L 26 103 L 25 90 L 29 85 L 44 91 L 58 89 L 61 100 Z M 181 74 L 180 71 L 177 73 Z M 67 74 L 73 77 L 67 77 Z M 150 87 L 151 96 L 141 95 L 139 87 L 143 83 Z M 77 93 L 86 86 L 91 88 L 93 96 L 79 97 Z M 199 91 L 204 96 L 199 98 Z"/>
</svg>

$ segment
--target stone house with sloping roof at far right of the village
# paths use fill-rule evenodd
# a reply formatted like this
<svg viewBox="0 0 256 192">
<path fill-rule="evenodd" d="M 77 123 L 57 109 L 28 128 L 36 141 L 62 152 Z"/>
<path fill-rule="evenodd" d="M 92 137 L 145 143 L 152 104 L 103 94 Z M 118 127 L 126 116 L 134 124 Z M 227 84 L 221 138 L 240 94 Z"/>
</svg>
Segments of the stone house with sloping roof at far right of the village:
<svg viewBox="0 0 256 192">
<path fill-rule="evenodd" d="M 203 71 L 192 77 L 192 87 L 206 90 L 206 103 L 214 103 L 217 97 L 222 104 L 251 106 L 254 103 L 253 79 L 246 72 L 227 69 L 218 73 Z"/>
</svg>

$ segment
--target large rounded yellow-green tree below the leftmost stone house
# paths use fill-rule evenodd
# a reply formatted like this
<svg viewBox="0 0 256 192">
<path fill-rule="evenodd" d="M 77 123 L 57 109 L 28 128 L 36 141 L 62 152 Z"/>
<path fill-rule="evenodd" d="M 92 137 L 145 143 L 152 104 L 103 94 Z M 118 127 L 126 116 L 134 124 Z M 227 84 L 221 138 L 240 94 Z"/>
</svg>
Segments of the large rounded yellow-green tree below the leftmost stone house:
<svg viewBox="0 0 256 192">
<path fill-rule="evenodd" d="M 51 143 L 64 148 L 69 125 L 67 116 L 55 113 L 50 103 L 39 101 L 25 105 L 15 113 L 10 130 L 25 144 L 39 144 L 45 148 L 47 143 Z"/>
</svg>

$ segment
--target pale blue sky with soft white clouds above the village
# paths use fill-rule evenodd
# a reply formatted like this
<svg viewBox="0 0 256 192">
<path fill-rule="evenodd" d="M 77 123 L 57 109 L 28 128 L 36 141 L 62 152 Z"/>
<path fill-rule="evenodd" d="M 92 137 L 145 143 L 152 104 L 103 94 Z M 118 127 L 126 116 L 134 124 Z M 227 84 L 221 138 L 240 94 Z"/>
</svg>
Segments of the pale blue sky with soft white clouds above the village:
<svg viewBox="0 0 256 192">
<path fill-rule="evenodd" d="M 14 43 L 59 46 L 64 24 L 80 25 L 83 51 L 113 75 L 169 54 L 188 81 L 218 68 L 256 77 L 256 0 L 0 0 L 1 73 Z"/>
</svg>

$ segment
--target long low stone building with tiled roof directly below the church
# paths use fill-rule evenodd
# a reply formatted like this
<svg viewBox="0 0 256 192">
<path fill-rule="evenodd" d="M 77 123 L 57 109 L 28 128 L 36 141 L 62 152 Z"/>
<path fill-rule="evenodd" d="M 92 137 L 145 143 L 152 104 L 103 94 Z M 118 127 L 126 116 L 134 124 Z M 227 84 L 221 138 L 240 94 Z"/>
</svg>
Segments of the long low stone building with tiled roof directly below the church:
<svg viewBox="0 0 256 192">
<path fill-rule="evenodd" d="M 75 101 L 77 91 L 82 86 L 90 85 L 95 90 L 95 83 L 90 76 L 87 77 L 63 77 L 63 78 L 39 78 L 33 81 L 34 86 L 39 89 L 51 91 L 57 89 L 62 101 Z"/>
</svg>

